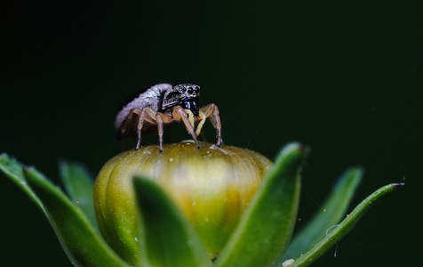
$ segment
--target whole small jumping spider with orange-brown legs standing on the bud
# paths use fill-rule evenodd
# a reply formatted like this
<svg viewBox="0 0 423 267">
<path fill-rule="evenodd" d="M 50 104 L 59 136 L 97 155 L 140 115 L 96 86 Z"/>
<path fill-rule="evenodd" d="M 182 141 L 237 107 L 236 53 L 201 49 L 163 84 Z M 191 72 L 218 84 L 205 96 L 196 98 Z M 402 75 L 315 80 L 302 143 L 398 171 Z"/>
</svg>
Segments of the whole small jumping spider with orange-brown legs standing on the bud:
<svg viewBox="0 0 423 267">
<path fill-rule="evenodd" d="M 164 124 L 182 121 L 199 149 L 197 136 L 201 134 L 204 122 L 209 117 L 211 125 L 216 129 L 216 144 L 220 147 L 223 140 L 218 106 L 211 103 L 200 109 L 199 98 L 199 85 L 153 85 L 127 102 L 117 113 L 115 120 L 117 134 L 122 138 L 135 136 L 137 138 L 135 150 L 139 150 L 141 134 L 149 134 L 157 127 L 159 150 L 162 152 Z"/>
</svg>

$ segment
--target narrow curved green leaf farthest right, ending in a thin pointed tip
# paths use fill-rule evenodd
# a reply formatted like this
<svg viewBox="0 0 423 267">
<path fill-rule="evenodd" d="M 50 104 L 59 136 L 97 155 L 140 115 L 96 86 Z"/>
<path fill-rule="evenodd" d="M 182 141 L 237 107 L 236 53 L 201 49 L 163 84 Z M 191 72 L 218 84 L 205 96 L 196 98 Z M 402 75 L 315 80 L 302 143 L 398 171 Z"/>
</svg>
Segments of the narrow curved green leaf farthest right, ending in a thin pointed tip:
<svg viewBox="0 0 423 267">
<path fill-rule="evenodd" d="M 315 247 L 312 247 L 304 255 L 299 256 L 299 258 L 297 258 L 289 266 L 308 266 L 311 263 L 314 263 L 316 259 L 323 255 L 328 249 L 335 246 L 340 239 L 351 231 L 363 214 L 365 214 L 377 200 L 400 186 L 403 186 L 403 183 L 391 183 L 373 192 L 369 197 L 365 198 L 360 204 L 355 206 L 355 209 L 348 214 L 341 223 L 333 225 L 330 229 L 331 231 L 327 231 L 322 241 L 317 243 Z"/>
</svg>

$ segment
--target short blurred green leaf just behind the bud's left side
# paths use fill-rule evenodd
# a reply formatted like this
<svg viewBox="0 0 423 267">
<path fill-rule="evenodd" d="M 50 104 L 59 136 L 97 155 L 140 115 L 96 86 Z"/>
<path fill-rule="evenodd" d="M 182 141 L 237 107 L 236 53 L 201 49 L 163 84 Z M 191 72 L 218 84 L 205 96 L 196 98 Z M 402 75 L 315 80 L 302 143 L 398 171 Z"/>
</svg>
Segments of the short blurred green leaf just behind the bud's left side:
<svg viewBox="0 0 423 267">
<path fill-rule="evenodd" d="M 93 203 L 93 178 L 88 171 L 76 163 L 60 162 L 60 177 L 69 198 L 87 216 L 96 231 L 100 232 Z"/>
</svg>

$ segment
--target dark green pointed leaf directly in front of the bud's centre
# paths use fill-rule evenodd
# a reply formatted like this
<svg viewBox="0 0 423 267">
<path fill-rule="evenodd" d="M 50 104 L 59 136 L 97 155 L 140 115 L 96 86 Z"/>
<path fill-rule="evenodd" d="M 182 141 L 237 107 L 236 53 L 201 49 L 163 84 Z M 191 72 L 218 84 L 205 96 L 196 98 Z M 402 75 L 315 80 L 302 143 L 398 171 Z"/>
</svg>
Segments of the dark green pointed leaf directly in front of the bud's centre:
<svg viewBox="0 0 423 267">
<path fill-rule="evenodd" d="M 187 218 L 155 182 L 134 178 L 140 209 L 140 266 L 210 266 L 211 260 Z"/>
</svg>

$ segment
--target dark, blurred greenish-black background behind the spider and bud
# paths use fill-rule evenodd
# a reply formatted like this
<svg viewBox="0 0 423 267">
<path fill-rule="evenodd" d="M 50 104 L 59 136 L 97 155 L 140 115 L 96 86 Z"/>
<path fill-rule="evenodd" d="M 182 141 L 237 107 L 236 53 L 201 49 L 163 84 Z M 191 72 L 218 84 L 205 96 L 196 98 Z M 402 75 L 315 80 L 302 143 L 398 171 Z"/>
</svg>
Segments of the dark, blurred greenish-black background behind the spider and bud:
<svg viewBox="0 0 423 267">
<path fill-rule="evenodd" d="M 315 266 L 405 266 L 419 255 L 423 3 L 28 1 L 1 10 L 0 151 L 56 183 L 63 158 L 95 175 L 121 150 L 113 124 L 128 95 L 197 83 L 201 103 L 219 105 L 227 144 L 268 158 L 286 142 L 311 148 L 299 226 L 348 166 L 365 169 L 354 206 L 406 182 Z M 214 142 L 209 123 L 204 132 Z M 176 125 L 168 137 L 188 135 Z M 4 266 L 71 265 L 3 175 L 0 209 Z"/>
</svg>

